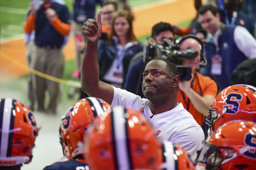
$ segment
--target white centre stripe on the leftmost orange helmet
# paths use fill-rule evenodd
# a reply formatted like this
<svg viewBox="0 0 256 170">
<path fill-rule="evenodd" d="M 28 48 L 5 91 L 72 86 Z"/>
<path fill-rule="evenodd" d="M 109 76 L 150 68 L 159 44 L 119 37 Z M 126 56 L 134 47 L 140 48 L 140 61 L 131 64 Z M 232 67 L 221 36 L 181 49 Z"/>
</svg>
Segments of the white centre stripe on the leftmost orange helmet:
<svg viewBox="0 0 256 170">
<path fill-rule="evenodd" d="M 3 123 L 2 123 L 2 133 L 1 133 L 1 153 L 0 157 L 6 157 L 7 156 L 7 148 L 11 148 L 11 146 L 8 146 L 9 141 L 9 131 L 10 131 L 10 121 L 11 121 L 11 105 L 12 105 L 12 99 L 6 98 L 4 100 L 4 109 L 3 109 Z M 1 102 L 2 106 L 2 102 Z"/>
</svg>

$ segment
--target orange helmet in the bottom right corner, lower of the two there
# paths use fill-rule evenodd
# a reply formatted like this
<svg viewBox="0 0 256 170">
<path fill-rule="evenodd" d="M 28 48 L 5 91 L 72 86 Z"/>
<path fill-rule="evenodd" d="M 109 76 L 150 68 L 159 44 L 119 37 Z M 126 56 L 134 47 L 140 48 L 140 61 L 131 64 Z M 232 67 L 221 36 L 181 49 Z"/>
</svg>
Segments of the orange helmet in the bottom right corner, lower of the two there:
<svg viewBox="0 0 256 170">
<path fill-rule="evenodd" d="M 256 124 L 234 120 L 218 127 L 205 141 L 196 168 L 255 170 Z"/>
</svg>

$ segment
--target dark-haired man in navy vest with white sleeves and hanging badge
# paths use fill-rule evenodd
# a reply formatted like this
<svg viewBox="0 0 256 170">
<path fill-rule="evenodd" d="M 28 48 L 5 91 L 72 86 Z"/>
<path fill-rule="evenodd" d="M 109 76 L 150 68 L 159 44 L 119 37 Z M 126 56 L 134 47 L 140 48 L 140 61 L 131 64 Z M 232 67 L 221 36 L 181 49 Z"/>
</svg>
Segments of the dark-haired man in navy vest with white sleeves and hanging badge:
<svg viewBox="0 0 256 170">
<path fill-rule="evenodd" d="M 198 21 L 208 32 L 205 45 L 208 63 L 199 73 L 215 80 L 220 91 L 231 85 L 230 76 L 239 63 L 256 58 L 256 41 L 245 27 L 221 23 L 218 9 L 212 5 L 198 10 Z"/>
</svg>

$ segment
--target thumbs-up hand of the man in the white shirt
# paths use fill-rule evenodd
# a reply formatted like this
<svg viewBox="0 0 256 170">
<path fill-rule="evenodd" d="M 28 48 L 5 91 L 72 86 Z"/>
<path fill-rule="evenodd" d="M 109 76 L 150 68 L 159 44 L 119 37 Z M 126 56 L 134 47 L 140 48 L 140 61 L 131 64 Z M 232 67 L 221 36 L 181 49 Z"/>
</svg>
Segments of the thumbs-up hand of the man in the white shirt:
<svg viewBox="0 0 256 170">
<path fill-rule="evenodd" d="M 101 36 L 101 13 L 102 10 L 100 9 L 97 13 L 97 21 L 88 19 L 83 23 L 82 34 L 88 42 L 95 42 L 96 40 L 99 40 Z"/>
</svg>

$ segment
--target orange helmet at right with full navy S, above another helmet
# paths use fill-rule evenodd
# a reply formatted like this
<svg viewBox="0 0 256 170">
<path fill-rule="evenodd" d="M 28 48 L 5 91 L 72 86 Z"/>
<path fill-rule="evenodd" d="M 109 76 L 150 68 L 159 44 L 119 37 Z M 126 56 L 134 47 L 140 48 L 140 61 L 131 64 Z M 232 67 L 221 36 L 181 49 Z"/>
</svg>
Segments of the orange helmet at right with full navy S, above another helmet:
<svg viewBox="0 0 256 170">
<path fill-rule="evenodd" d="M 210 131 L 231 120 L 256 121 L 256 88 L 237 84 L 224 88 L 209 107 Z"/>
</svg>

